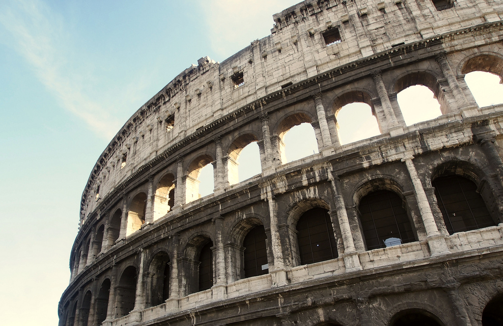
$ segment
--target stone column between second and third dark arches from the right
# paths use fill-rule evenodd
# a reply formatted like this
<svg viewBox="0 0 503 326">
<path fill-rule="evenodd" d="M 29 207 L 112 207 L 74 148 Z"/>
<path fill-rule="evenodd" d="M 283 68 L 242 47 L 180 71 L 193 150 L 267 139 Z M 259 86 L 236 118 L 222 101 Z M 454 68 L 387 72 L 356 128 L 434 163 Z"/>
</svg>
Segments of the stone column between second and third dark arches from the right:
<svg viewBox="0 0 503 326">
<path fill-rule="evenodd" d="M 331 172 L 328 173 L 328 176 L 334 193 L 333 199 L 336 205 L 337 218 L 343 238 L 344 254 L 342 257 L 344 258 L 344 265 L 346 266 L 347 272 L 359 271 L 362 269 L 362 266 L 360 264 L 358 252 L 355 249 L 353 234 L 351 233 L 348 212 L 346 211 L 346 204 L 344 203 L 343 192 L 341 189 L 341 180 L 338 176 L 333 176 Z"/>
</svg>

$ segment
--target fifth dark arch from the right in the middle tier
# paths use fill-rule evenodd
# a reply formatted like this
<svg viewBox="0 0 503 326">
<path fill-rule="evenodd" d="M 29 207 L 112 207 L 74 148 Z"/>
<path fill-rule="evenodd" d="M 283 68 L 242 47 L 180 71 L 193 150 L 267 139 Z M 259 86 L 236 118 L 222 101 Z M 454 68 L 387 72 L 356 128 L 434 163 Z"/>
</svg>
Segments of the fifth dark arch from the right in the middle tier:
<svg viewBox="0 0 503 326">
<path fill-rule="evenodd" d="M 185 295 L 206 290 L 215 279 L 213 240 L 205 232 L 194 234 L 184 249 L 183 277 L 186 280 Z M 201 261 L 203 260 L 203 261 Z"/>
</svg>

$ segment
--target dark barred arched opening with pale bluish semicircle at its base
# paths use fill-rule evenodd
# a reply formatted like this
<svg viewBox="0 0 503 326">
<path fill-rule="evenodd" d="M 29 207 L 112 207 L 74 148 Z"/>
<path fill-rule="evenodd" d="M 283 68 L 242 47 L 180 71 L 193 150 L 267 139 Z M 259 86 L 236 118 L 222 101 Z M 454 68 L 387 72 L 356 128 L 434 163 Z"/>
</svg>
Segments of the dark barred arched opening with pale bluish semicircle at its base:
<svg viewBox="0 0 503 326">
<path fill-rule="evenodd" d="M 367 250 L 415 241 L 402 199 L 389 190 L 378 190 L 362 198 L 358 206 Z"/>
</svg>

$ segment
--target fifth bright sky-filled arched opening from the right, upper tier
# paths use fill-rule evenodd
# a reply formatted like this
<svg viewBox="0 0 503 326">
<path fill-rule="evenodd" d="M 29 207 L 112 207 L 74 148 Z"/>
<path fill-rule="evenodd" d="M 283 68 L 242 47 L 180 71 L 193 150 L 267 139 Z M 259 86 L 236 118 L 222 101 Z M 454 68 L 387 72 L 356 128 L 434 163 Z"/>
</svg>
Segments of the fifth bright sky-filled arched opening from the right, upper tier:
<svg viewBox="0 0 503 326">
<path fill-rule="evenodd" d="M 254 134 L 237 137 L 229 148 L 227 176 L 234 185 L 262 173 L 258 138 Z"/>
</svg>

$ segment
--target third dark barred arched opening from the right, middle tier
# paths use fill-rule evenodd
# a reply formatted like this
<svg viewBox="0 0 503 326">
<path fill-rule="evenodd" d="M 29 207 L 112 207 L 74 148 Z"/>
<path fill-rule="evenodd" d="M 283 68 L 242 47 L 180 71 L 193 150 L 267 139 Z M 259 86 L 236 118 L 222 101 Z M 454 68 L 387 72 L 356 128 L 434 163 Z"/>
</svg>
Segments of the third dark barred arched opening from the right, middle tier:
<svg viewBox="0 0 503 326">
<path fill-rule="evenodd" d="M 313 264 L 339 257 L 328 211 L 312 208 L 297 222 L 300 264 Z"/>
</svg>

